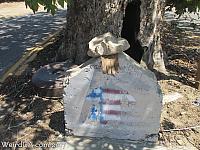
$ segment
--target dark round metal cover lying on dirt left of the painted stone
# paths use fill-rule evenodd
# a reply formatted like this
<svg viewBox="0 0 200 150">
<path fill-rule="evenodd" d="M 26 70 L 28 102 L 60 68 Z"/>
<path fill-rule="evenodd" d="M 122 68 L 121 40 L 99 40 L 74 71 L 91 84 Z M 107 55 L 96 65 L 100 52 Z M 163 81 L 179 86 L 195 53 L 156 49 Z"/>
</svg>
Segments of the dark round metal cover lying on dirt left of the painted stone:
<svg viewBox="0 0 200 150">
<path fill-rule="evenodd" d="M 65 72 L 70 66 L 69 62 L 56 62 L 40 68 L 32 77 L 32 83 L 39 96 L 61 98 Z"/>
</svg>

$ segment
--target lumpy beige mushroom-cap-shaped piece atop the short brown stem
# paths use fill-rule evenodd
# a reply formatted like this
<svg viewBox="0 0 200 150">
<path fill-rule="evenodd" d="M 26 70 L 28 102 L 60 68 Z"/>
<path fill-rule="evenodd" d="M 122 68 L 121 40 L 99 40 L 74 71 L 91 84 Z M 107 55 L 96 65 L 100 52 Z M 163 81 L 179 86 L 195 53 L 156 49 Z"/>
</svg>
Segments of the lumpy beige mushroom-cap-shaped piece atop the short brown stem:
<svg viewBox="0 0 200 150">
<path fill-rule="evenodd" d="M 98 57 L 123 52 L 130 47 L 124 38 L 116 38 L 110 32 L 93 38 L 89 42 L 88 56 Z"/>
</svg>

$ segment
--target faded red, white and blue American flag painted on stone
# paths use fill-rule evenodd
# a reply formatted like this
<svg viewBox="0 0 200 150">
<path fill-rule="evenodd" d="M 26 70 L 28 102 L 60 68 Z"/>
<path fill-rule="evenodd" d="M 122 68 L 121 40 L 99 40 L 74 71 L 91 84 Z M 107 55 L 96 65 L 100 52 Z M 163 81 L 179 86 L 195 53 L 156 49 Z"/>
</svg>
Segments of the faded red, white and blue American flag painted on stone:
<svg viewBox="0 0 200 150">
<path fill-rule="evenodd" d="M 97 106 L 93 105 L 89 118 L 98 120 L 101 124 L 107 124 L 110 121 L 121 120 L 123 109 L 121 103 L 124 100 L 135 102 L 134 97 L 129 95 L 126 90 L 116 90 L 111 88 L 95 88 L 86 97 L 86 100 L 98 102 Z"/>
</svg>

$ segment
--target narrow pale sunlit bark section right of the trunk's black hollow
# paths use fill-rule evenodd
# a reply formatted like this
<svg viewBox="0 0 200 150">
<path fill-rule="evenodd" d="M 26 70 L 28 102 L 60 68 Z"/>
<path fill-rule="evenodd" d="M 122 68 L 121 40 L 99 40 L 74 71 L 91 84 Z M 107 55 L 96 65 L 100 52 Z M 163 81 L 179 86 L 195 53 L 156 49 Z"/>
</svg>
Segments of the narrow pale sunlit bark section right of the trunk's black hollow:
<svg viewBox="0 0 200 150">
<path fill-rule="evenodd" d="M 142 0 L 139 40 L 146 47 L 143 60 L 149 69 L 166 73 L 164 54 L 160 43 L 165 0 Z"/>
</svg>

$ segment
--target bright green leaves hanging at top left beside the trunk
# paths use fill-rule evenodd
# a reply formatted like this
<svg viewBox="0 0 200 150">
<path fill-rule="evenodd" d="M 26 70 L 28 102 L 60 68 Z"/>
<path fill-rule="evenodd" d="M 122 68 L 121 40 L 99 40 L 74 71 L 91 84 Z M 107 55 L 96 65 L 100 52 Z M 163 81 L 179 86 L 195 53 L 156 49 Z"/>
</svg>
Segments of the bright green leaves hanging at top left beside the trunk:
<svg viewBox="0 0 200 150">
<path fill-rule="evenodd" d="M 69 0 L 25 0 L 26 7 L 29 7 L 35 13 L 38 11 L 39 5 L 44 6 L 44 10 L 50 12 L 52 15 L 55 14 L 58 6 L 64 7 L 64 3 L 69 3 Z"/>
</svg>

